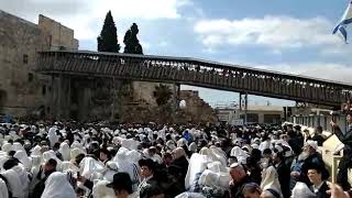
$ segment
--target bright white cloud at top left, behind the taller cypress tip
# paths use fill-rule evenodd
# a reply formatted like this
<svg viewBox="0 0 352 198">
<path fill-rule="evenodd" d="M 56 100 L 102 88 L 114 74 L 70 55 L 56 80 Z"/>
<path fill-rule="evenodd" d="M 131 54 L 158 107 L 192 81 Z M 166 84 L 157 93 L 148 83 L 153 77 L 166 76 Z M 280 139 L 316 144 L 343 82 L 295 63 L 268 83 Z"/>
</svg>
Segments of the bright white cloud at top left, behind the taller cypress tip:
<svg viewBox="0 0 352 198">
<path fill-rule="evenodd" d="M 78 40 L 96 40 L 109 10 L 120 20 L 178 19 L 179 8 L 190 0 L 0 0 L 1 10 L 36 23 L 44 14 L 74 29 Z"/>
</svg>

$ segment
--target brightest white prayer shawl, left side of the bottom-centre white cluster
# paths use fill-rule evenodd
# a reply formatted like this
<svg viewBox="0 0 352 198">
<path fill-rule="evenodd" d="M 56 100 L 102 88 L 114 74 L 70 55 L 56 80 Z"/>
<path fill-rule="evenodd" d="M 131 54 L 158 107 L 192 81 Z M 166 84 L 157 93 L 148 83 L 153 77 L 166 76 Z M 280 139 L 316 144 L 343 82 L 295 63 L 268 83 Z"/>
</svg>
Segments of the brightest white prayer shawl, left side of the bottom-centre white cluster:
<svg viewBox="0 0 352 198">
<path fill-rule="evenodd" d="M 208 157 L 198 153 L 194 153 L 189 160 L 187 174 L 185 177 L 185 187 L 188 190 L 196 180 L 197 174 L 202 173 L 207 168 Z"/>
</svg>

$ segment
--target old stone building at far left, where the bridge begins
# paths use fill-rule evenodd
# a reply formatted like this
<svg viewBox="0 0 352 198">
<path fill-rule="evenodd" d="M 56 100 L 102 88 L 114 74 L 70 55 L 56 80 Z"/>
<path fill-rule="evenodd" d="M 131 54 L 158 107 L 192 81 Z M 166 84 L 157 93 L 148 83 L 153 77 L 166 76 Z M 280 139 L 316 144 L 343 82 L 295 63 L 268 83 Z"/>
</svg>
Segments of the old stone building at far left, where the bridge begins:
<svg viewBox="0 0 352 198">
<path fill-rule="evenodd" d="M 52 81 L 34 72 L 40 51 L 78 50 L 74 31 L 44 15 L 38 24 L 0 10 L 0 112 L 51 113 Z"/>
</svg>

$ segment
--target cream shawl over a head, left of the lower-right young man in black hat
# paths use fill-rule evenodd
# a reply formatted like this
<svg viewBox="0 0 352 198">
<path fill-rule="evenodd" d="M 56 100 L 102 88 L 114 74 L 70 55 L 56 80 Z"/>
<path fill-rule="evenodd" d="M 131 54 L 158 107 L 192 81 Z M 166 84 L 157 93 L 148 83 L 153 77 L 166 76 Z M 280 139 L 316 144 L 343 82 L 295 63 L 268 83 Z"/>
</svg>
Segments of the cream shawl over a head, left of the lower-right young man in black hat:
<svg viewBox="0 0 352 198">
<path fill-rule="evenodd" d="M 278 182 L 278 175 L 274 166 L 268 166 L 263 170 L 261 188 L 263 190 L 274 189 L 280 195 L 280 197 L 283 197 L 282 188 Z"/>
</svg>

